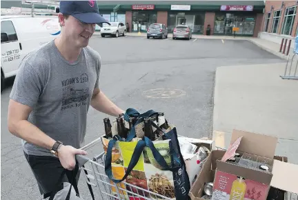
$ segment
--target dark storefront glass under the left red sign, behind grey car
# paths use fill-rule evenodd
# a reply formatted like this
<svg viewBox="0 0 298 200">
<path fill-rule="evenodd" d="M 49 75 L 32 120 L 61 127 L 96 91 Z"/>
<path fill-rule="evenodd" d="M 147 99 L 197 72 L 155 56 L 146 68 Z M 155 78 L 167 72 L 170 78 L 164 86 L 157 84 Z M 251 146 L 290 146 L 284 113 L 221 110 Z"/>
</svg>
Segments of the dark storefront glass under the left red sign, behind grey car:
<svg viewBox="0 0 298 200">
<path fill-rule="evenodd" d="M 152 23 L 157 23 L 157 12 L 137 11 L 132 12 L 132 31 L 146 32 Z"/>
</svg>

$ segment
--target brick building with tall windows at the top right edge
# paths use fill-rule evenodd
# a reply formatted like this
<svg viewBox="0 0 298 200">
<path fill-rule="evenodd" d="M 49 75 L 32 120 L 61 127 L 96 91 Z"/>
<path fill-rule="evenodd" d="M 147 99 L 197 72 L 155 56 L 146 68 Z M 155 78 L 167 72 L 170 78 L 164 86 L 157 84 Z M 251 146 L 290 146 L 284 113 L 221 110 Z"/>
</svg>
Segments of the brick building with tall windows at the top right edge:
<svg viewBox="0 0 298 200">
<path fill-rule="evenodd" d="M 275 43 L 298 34 L 298 1 L 266 1 L 259 37 Z"/>
</svg>

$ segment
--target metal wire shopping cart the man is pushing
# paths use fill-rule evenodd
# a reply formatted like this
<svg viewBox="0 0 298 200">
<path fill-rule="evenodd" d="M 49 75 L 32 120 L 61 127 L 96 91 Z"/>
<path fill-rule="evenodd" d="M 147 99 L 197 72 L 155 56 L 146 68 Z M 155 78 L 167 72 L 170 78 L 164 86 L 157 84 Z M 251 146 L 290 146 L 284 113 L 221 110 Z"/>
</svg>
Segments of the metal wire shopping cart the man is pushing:
<svg viewBox="0 0 298 200">
<path fill-rule="evenodd" d="M 86 146 L 83 146 L 82 150 L 90 149 L 93 146 L 101 143 L 101 138 L 95 139 L 91 143 L 88 143 Z M 81 174 L 85 178 L 87 184 L 91 186 L 92 192 L 95 195 L 95 199 L 126 199 L 126 200 L 143 200 L 143 199 L 167 199 L 171 198 L 162 196 L 150 190 L 145 190 L 138 186 L 133 186 L 130 183 L 125 181 L 121 183 L 113 183 L 110 181 L 105 172 L 105 159 L 106 154 L 102 152 L 92 159 L 83 156 L 77 155 L 77 161 L 79 167 L 81 168 Z M 128 197 L 129 196 L 129 197 Z M 82 197 L 84 198 L 84 197 Z"/>
</svg>

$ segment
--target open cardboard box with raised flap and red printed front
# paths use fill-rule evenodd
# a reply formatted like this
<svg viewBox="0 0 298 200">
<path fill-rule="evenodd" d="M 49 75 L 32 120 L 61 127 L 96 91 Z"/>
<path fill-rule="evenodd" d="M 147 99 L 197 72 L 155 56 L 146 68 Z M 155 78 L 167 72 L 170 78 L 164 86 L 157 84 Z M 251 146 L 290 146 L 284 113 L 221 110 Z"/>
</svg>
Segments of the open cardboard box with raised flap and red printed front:
<svg viewBox="0 0 298 200">
<path fill-rule="evenodd" d="M 217 160 L 212 200 L 266 200 L 276 146 L 275 137 L 232 130 L 230 147 L 223 159 Z M 227 162 L 236 151 L 243 159 L 238 163 Z M 266 163 L 269 170 L 260 170 L 260 163 Z"/>
</svg>

